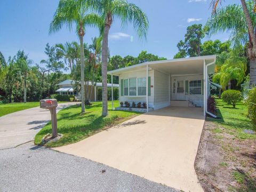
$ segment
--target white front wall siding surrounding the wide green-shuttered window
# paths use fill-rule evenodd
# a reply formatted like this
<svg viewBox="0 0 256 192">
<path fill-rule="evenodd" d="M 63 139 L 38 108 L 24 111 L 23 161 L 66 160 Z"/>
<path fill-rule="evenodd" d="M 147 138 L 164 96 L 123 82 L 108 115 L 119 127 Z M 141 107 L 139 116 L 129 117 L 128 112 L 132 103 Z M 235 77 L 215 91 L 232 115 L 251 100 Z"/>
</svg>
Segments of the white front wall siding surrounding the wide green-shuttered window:
<svg viewBox="0 0 256 192">
<path fill-rule="evenodd" d="M 138 71 L 132 71 L 132 72 L 127 72 L 127 73 L 123 73 L 119 76 L 119 101 L 120 102 L 146 102 L 146 96 L 121 96 L 121 79 L 127 79 L 127 78 L 141 78 L 141 77 L 146 77 L 147 73 L 146 73 L 146 69 L 145 70 L 138 70 Z M 149 70 L 149 77 L 150 77 L 150 84 L 153 85 L 153 87 L 151 87 L 151 94 L 148 97 L 148 106 L 149 107 L 154 107 L 154 72 L 153 70 Z"/>
</svg>

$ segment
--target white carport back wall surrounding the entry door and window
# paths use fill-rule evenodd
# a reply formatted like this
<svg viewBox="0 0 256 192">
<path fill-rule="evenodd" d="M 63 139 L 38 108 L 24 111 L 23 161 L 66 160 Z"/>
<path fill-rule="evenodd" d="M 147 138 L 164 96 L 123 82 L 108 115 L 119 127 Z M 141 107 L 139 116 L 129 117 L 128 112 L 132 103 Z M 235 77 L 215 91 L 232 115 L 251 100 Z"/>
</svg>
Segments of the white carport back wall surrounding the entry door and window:
<svg viewBox="0 0 256 192">
<path fill-rule="evenodd" d="M 173 82 L 178 81 L 178 80 L 185 80 L 185 81 L 197 81 L 201 80 L 203 83 L 204 76 L 203 74 L 200 75 L 183 75 L 183 76 L 178 76 L 178 75 L 172 75 L 171 76 L 171 81 L 172 81 L 172 92 L 173 92 Z M 189 83 L 188 83 L 189 85 Z M 176 85 L 177 86 L 177 85 Z M 188 88 L 189 90 L 189 88 Z M 175 100 L 175 94 L 172 94 L 172 100 Z M 203 107 L 204 106 L 204 95 L 203 95 L 203 90 L 202 94 L 188 94 L 188 100 L 193 102 L 196 106 L 198 107 Z"/>
</svg>

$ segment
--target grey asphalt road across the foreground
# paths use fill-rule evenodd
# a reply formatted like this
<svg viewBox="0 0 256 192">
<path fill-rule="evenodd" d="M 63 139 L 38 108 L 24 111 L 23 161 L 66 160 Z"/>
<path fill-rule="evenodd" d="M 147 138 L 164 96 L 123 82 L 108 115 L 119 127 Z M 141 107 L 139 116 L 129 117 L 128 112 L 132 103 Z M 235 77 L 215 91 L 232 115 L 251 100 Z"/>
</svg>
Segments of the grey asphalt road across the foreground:
<svg viewBox="0 0 256 192">
<path fill-rule="evenodd" d="M 0 191 L 177 190 L 29 142 L 0 150 Z"/>
</svg>

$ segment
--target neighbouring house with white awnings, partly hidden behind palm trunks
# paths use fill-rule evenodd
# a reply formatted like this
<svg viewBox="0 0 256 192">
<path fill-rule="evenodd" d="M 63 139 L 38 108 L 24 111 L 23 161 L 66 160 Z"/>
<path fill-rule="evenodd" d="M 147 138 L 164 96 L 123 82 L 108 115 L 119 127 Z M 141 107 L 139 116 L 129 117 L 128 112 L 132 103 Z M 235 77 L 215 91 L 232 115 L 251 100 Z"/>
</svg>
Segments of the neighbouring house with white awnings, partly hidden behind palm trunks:
<svg viewBox="0 0 256 192">
<path fill-rule="evenodd" d="M 66 79 L 65 81 L 63 82 L 60 82 L 59 84 L 59 89 L 56 90 L 56 92 L 60 95 L 76 95 L 77 98 L 81 98 L 81 93 L 78 92 L 76 89 L 75 89 L 75 81 L 74 80 L 71 80 L 71 79 Z M 86 82 L 85 82 L 85 90 L 86 90 Z M 102 83 L 95 83 L 93 86 L 92 86 L 92 83 L 89 82 L 89 91 L 91 89 L 92 90 L 92 94 L 91 94 L 91 101 L 97 101 L 98 100 L 98 87 L 102 87 Z M 108 87 L 111 87 L 111 84 L 108 83 Z M 113 87 L 119 87 L 118 84 L 113 84 Z"/>
</svg>

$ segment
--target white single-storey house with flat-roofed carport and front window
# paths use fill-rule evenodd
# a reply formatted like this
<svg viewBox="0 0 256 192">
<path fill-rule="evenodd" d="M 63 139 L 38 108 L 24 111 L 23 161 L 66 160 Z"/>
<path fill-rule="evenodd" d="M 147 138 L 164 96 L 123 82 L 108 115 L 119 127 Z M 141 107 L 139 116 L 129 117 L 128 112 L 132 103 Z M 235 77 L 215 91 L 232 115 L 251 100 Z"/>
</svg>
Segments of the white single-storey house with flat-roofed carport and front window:
<svg viewBox="0 0 256 192">
<path fill-rule="evenodd" d="M 154 110 L 167 106 L 204 107 L 214 74 L 216 56 L 151 61 L 108 71 L 119 77 L 119 101 L 146 102 Z"/>
</svg>

